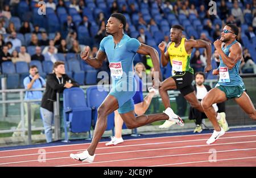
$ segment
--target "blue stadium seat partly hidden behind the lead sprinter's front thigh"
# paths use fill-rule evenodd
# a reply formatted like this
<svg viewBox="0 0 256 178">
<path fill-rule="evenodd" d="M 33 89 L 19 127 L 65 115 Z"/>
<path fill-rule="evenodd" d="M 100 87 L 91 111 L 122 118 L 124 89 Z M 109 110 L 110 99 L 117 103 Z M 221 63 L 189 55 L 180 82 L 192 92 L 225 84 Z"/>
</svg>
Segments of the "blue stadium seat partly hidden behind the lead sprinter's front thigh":
<svg viewBox="0 0 256 178">
<path fill-rule="evenodd" d="M 100 89 L 100 90 L 98 90 Z M 86 90 L 86 98 L 87 98 L 87 105 L 88 107 L 92 107 L 93 109 L 93 121 L 94 121 L 94 126 L 96 125 L 97 121 L 97 109 L 100 107 L 101 103 L 105 100 L 106 96 L 108 96 L 108 91 L 104 91 L 104 88 L 101 86 L 93 86 L 89 87 Z M 108 123 L 106 130 L 112 130 L 112 133 L 114 135 L 114 112 L 111 113 L 108 116 Z"/>
</svg>

